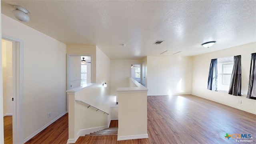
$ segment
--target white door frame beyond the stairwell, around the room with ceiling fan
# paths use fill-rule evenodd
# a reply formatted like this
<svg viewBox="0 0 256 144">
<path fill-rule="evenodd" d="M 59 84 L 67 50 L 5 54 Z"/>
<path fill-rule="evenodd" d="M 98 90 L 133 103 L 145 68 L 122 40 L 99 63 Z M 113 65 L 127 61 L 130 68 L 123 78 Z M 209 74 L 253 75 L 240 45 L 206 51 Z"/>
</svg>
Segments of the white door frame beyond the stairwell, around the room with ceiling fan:
<svg viewBox="0 0 256 144">
<path fill-rule="evenodd" d="M 91 82 L 92 82 L 92 75 L 93 75 L 93 70 L 92 70 L 92 54 L 67 54 L 67 86 L 66 90 L 69 90 L 69 85 L 70 85 L 70 57 L 71 56 L 90 56 L 91 57 Z M 66 102 L 67 102 L 67 112 L 68 112 L 68 95 L 66 95 Z"/>
</svg>

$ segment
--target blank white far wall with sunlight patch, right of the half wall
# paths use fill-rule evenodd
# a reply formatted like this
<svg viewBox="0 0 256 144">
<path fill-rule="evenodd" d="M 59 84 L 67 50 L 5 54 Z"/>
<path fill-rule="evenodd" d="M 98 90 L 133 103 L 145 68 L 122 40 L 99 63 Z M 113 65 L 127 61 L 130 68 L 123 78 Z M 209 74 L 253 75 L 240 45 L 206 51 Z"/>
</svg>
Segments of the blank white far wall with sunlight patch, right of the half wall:
<svg viewBox="0 0 256 144">
<path fill-rule="evenodd" d="M 191 94 L 192 58 L 148 56 L 148 96 Z"/>
</svg>

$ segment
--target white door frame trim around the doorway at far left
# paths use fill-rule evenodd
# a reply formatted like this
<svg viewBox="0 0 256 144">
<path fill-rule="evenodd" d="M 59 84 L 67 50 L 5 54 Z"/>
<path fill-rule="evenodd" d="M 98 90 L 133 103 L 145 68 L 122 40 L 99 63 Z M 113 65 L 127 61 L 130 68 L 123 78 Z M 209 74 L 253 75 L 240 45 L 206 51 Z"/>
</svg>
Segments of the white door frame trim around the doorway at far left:
<svg viewBox="0 0 256 144">
<path fill-rule="evenodd" d="M 23 49 L 24 42 L 18 38 L 2 34 L 2 39 L 12 42 L 12 92 L 14 106 L 12 112 L 12 143 L 23 144 Z"/>
</svg>

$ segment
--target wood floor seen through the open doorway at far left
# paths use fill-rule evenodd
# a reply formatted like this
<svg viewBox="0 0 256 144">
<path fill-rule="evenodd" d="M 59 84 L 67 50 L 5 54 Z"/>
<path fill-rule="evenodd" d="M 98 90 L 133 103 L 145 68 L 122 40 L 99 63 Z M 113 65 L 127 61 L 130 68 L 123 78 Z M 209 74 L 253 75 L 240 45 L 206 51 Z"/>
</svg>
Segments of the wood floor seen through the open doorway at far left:
<svg viewBox="0 0 256 144">
<path fill-rule="evenodd" d="M 4 116 L 4 144 L 12 144 L 12 116 Z"/>
</svg>

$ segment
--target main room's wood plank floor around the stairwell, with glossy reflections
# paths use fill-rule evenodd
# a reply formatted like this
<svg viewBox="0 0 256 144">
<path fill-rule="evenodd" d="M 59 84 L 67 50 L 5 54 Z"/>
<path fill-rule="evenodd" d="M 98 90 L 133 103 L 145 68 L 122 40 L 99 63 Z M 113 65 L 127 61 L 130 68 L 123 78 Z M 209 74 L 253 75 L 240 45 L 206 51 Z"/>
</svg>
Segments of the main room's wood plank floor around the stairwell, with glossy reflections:
<svg viewBox="0 0 256 144">
<path fill-rule="evenodd" d="M 68 115 L 27 144 L 66 144 Z M 117 135 L 84 136 L 76 144 L 234 144 L 228 134 L 251 134 L 256 142 L 256 115 L 192 95 L 148 96 L 147 139 L 117 141 Z M 243 143 L 243 142 L 240 142 Z"/>
</svg>

